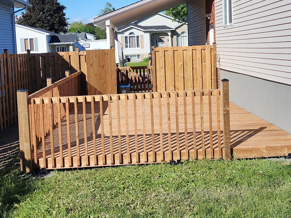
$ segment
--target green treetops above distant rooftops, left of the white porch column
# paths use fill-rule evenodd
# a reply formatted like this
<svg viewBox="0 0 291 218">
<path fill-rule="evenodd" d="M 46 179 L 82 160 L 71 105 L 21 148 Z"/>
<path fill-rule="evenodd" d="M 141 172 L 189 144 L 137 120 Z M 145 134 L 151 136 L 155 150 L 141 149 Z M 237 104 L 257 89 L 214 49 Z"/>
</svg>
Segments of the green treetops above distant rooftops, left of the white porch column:
<svg viewBox="0 0 291 218">
<path fill-rule="evenodd" d="M 68 28 L 69 32 L 86 32 L 95 36 L 95 39 L 106 39 L 105 30 L 95 26 L 93 23 L 83 24 L 82 22 L 72 22 Z"/>
</svg>

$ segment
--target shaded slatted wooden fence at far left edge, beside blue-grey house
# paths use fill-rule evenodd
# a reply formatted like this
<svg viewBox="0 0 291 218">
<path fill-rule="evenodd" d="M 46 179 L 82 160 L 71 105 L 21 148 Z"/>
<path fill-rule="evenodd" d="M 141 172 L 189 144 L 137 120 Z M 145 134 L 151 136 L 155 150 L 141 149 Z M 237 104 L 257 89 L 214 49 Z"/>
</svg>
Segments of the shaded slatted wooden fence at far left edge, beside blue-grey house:
<svg viewBox="0 0 291 218">
<path fill-rule="evenodd" d="M 30 74 L 26 54 L 0 54 L 0 131 L 17 122 L 16 90 L 29 89 Z"/>
</svg>

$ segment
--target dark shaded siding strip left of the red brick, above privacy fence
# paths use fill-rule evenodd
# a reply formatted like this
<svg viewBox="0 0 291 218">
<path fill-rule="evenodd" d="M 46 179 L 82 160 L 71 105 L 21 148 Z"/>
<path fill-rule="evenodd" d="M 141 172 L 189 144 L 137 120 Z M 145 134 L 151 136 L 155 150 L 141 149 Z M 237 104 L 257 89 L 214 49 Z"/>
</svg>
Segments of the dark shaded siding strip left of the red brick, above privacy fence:
<svg viewBox="0 0 291 218">
<path fill-rule="evenodd" d="M 206 45 L 205 1 L 188 2 L 189 45 Z"/>
</svg>

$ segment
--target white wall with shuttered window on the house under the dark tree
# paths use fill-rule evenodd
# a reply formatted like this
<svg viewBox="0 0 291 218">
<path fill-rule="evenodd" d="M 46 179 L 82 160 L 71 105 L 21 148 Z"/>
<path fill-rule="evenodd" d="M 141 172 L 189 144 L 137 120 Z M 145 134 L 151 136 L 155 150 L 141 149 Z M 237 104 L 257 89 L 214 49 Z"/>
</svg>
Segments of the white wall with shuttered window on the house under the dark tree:
<svg viewBox="0 0 291 218">
<path fill-rule="evenodd" d="M 47 44 L 47 36 L 43 33 L 33 31 L 31 29 L 23 28 L 21 25 L 15 25 L 16 32 L 16 45 L 17 45 L 17 53 L 23 54 L 26 53 L 24 47 L 23 51 L 21 49 L 21 44 L 24 46 L 25 38 L 33 38 L 34 39 L 34 50 L 31 53 L 46 53 L 49 52 L 48 44 Z M 37 40 L 35 40 L 37 38 Z M 22 42 L 21 42 L 22 41 Z"/>
</svg>

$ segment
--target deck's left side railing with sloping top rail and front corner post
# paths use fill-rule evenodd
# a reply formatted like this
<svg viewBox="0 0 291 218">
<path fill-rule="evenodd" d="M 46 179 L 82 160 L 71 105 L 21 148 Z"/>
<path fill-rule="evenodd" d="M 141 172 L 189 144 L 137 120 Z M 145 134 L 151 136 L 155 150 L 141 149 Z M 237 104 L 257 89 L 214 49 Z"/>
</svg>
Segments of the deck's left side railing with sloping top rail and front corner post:
<svg viewBox="0 0 291 218">
<path fill-rule="evenodd" d="M 44 142 L 53 129 L 61 123 L 61 120 L 72 110 L 74 104 L 58 104 L 60 97 L 75 96 L 82 94 L 81 81 L 82 72 L 78 71 L 72 75 L 52 84 L 52 78 L 47 79 L 48 86 L 28 96 L 28 90 L 22 89 L 17 92 L 18 116 L 23 116 L 22 111 L 27 111 L 28 120 L 19 120 L 19 139 L 21 151 L 21 168 L 31 169 L 31 163 L 28 162 L 32 157 L 37 157 L 37 147 Z M 55 98 L 55 102 L 52 102 Z M 35 102 L 37 99 L 37 102 Z M 55 104 L 45 104 L 44 99 Z M 25 130 L 25 128 L 28 128 Z M 29 136 L 27 135 L 29 133 Z M 62 134 L 62 133 L 60 133 Z M 22 140 L 30 138 L 30 143 L 22 145 Z M 28 146 L 29 145 L 29 146 Z M 43 150 L 45 155 L 45 150 Z M 37 161 L 37 158 L 35 158 Z M 38 163 L 34 162 L 37 166 Z M 29 166 L 29 167 L 28 167 Z"/>
</svg>

